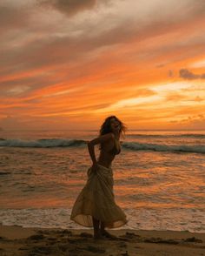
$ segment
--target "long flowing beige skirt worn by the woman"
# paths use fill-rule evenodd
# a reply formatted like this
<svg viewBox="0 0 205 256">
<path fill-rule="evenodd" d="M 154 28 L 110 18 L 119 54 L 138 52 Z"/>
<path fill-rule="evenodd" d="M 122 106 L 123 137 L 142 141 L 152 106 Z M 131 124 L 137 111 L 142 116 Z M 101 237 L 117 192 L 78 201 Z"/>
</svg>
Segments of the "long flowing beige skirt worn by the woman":
<svg viewBox="0 0 205 256">
<path fill-rule="evenodd" d="M 82 226 L 93 226 L 92 217 L 109 228 L 128 222 L 114 199 L 112 169 L 102 165 L 98 165 L 97 172 L 89 168 L 87 183 L 76 199 L 70 219 Z"/>
</svg>

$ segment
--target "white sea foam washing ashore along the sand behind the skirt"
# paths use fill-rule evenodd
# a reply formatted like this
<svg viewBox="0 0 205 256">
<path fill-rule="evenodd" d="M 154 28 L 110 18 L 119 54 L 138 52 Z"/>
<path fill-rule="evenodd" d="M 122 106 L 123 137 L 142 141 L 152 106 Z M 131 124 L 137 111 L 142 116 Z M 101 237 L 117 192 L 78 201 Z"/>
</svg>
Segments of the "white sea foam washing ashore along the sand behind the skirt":
<svg viewBox="0 0 205 256">
<path fill-rule="evenodd" d="M 125 209 L 129 222 L 122 228 L 136 230 L 174 230 L 205 232 L 205 215 L 198 209 Z M 2 209 L 5 226 L 80 229 L 69 219 L 70 209 Z M 200 220 L 199 220 L 200 219 Z"/>
</svg>

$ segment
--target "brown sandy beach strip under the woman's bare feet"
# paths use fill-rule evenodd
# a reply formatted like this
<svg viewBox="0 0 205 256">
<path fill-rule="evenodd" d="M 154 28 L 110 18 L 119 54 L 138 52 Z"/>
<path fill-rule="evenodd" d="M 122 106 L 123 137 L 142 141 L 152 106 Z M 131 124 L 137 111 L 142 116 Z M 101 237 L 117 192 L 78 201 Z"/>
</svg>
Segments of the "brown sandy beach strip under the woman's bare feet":
<svg viewBox="0 0 205 256">
<path fill-rule="evenodd" d="M 110 230 L 113 239 L 94 240 L 92 230 L 0 226 L 0 253 L 10 255 L 205 255 L 205 234 Z"/>
</svg>

